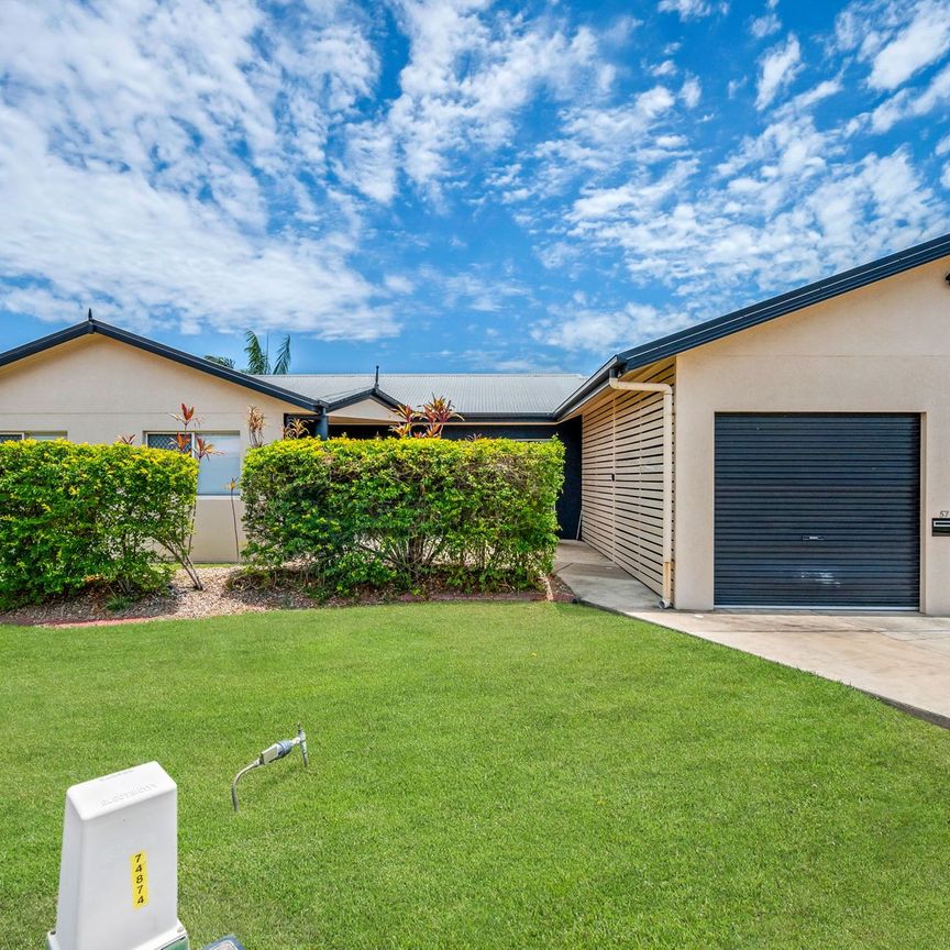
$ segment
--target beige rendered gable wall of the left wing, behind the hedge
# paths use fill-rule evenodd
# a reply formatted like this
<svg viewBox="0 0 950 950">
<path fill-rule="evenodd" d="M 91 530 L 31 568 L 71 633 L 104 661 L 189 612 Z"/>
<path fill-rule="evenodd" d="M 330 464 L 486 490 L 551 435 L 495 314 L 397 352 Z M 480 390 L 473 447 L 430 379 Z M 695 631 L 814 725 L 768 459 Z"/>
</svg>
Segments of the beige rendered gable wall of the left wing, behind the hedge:
<svg viewBox="0 0 950 950">
<path fill-rule="evenodd" d="M 298 407 L 189 366 L 90 334 L 0 369 L 0 432 L 65 431 L 73 442 L 114 442 L 176 430 L 170 413 L 196 407 L 196 431 L 240 433 L 248 446 L 247 407 L 265 416 L 265 439 L 280 438 L 285 412 Z M 241 502 L 238 502 L 239 529 Z M 233 561 L 234 528 L 228 497 L 198 500 L 197 561 Z"/>
</svg>

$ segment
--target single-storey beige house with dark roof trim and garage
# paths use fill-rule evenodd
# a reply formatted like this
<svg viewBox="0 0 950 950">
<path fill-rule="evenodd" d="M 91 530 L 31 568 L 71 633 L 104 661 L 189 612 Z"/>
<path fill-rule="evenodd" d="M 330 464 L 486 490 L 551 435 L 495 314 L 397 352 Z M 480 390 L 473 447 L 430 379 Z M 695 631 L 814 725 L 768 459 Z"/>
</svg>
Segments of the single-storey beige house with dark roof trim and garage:
<svg viewBox="0 0 950 950">
<path fill-rule="evenodd" d="M 473 433 L 561 438 L 562 534 L 681 609 L 950 614 L 950 235 L 572 374 L 251 376 L 88 320 L 0 354 L 0 439 L 168 444 L 197 407 L 198 560 L 233 556 L 228 483 L 302 419 L 385 433 L 451 398 Z"/>
</svg>

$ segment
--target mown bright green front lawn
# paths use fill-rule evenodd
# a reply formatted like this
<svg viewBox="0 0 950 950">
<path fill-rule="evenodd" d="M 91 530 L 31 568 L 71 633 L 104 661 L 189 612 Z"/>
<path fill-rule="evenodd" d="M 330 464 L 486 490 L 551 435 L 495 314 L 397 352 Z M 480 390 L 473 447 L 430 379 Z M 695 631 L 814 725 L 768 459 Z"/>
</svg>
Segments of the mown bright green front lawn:
<svg viewBox="0 0 950 950">
<path fill-rule="evenodd" d="M 178 782 L 181 920 L 283 948 L 950 946 L 950 733 L 551 604 L 0 628 L 0 946 L 66 787 Z M 301 719 L 311 769 L 229 783 Z"/>
</svg>

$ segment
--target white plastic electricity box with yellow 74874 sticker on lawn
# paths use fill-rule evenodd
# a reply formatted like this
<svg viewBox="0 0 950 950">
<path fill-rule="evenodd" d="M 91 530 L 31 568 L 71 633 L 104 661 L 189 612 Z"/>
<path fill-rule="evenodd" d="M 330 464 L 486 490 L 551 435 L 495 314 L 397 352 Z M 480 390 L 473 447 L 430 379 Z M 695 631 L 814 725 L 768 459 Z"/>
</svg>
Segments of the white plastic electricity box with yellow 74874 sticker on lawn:
<svg viewBox="0 0 950 950">
<path fill-rule="evenodd" d="M 69 788 L 47 950 L 188 950 L 177 792 L 157 762 Z"/>
</svg>

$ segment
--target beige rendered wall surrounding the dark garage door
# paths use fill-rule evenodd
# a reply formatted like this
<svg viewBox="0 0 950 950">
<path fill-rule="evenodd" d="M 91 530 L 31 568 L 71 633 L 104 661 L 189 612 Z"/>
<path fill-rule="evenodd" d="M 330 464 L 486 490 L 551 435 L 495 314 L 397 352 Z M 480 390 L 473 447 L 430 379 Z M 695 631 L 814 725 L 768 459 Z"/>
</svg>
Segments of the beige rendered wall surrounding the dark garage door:
<svg viewBox="0 0 950 950">
<path fill-rule="evenodd" d="M 675 605 L 712 606 L 716 412 L 915 412 L 923 417 L 921 610 L 950 614 L 948 262 L 925 265 L 676 361 Z"/>
</svg>

